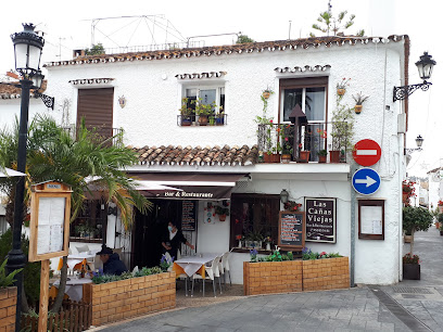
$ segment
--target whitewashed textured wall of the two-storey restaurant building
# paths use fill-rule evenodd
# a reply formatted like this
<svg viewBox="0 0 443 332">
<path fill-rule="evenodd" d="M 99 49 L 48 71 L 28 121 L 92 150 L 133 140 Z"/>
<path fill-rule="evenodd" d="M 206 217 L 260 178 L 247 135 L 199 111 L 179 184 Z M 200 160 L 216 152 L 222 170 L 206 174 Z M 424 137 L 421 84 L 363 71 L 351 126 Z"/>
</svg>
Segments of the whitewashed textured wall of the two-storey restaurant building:
<svg viewBox="0 0 443 332">
<path fill-rule="evenodd" d="M 356 229 L 355 282 L 389 284 L 401 279 L 401 182 L 405 174 L 405 163 L 403 133 L 397 135 L 397 115 L 402 112 L 402 104 L 398 101 L 392 102 L 392 90 L 394 86 L 403 84 L 403 41 L 388 44 L 369 42 L 261 53 L 48 67 L 47 93 L 54 95 L 56 100 L 69 101 L 71 118 L 75 119 L 77 88 L 68 80 L 114 78 L 109 85 L 115 89 L 113 126 L 125 129 L 127 144 L 134 146 L 252 145 L 256 143 L 254 118 L 262 114 L 263 108 L 261 92 L 267 86 L 276 91 L 279 89 L 279 78 L 274 69 L 330 65 L 330 71 L 326 74 L 329 76 L 329 119 L 336 105 L 337 82 L 343 77 L 351 77 L 351 87 L 343 98 L 343 103 L 353 106 L 352 94 L 356 92 L 370 95 L 364 104 L 362 114 L 355 115 L 354 142 L 360 139 L 372 139 L 382 149 L 380 162 L 371 167 L 379 173 L 382 183 L 380 190 L 370 199 L 385 200 L 385 239 L 384 241 L 358 240 Z M 182 86 L 175 75 L 220 71 L 227 73 L 224 79 L 226 80 L 225 111 L 228 114 L 228 125 L 177 126 Z M 316 75 L 316 73 L 306 72 L 302 76 Z M 322 75 L 325 74 L 320 74 Z M 204 80 L 201 81 L 204 82 Z M 83 88 L 93 88 L 93 86 L 83 86 Z M 127 105 L 121 108 L 117 100 L 123 94 L 127 99 Z M 277 117 L 278 94 L 269 99 L 268 110 L 269 115 Z M 275 165 L 275 167 L 279 166 Z M 199 169 L 194 167 L 164 167 L 163 169 L 208 170 L 204 166 Z M 145 170 L 152 170 L 152 167 Z M 246 171 L 254 175 L 255 167 L 248 167 Z M 246 192 L 278 194 L 282 188 L 290 188 L 290 195 L 295 201 L 303 196 L 338 197 L 338 243 L 307 245 L 315 251 L 340 252 L 349 255 L 351 209 L 357 208 L 351 205 L 351 182 L 346 178 L 336 180 L 334 175 L 328 175 L 327 169 L 325 171 L 326 174 L 318 176 L 317 179 L 314 176 L 307 177 L 306 180 L 291 180 L 290 183 L 283 179 L 269 181 L 263 177 L 257 178 L 253 180 L 252 187 L 249 187 Z M 303 174 L 299 176 L 303 177 Z M 358 194 L 356 197 L 364 199 Z M 357 210 L 355 215 L 357 216 Z M 200 225 L 200 222 L 202 221 L 199 221 L 198 245 L 201 251 L 228 250 L 229 220 L 216 225 Z M 249 259 L 245 254 L 232 255 L 235 282 L 242 282 L 241 269 L 242 261 L 245 259 Z"/>
</svg>

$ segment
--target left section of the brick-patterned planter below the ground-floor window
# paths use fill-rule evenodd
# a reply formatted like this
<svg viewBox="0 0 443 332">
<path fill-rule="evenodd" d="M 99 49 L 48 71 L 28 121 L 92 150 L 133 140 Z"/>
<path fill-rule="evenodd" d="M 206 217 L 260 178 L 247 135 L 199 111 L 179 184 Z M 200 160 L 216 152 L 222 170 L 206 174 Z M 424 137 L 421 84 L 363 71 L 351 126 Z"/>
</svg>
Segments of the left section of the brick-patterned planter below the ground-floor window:
<svg viewBox="0 0 443 332">
<path fill-rule="evenodd" d="M 301 292 L 302 260 L 243 263 L 244 295 Z"/>
</svg>

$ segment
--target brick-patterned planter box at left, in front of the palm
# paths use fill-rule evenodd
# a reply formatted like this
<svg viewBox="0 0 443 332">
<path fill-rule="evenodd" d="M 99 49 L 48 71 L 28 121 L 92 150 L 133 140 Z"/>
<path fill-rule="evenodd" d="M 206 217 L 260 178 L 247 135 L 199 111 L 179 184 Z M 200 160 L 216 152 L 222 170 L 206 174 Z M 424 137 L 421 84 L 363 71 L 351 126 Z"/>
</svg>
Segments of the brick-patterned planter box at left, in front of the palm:
<svg viewBox="0 0 443 332">
<path fill-rule="evenodd" d="M 92 325 L 96 327 L 176 306 L 175 272 L 89 283 L 84 290 L 84 298 L 92 305 Z"/>
</svg>

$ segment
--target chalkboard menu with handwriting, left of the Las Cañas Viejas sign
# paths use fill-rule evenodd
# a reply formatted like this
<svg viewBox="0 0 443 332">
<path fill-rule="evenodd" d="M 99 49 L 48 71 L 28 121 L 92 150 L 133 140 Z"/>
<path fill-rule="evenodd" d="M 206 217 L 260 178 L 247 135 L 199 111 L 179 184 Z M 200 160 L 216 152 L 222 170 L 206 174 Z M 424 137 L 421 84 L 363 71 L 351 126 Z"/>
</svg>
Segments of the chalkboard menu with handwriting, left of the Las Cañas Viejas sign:
<svg viewBox="0 0 443 332">
<path fill-rule="evenodd" d="M 281 210 L 278 220 L 278 245 L 283 250 L 304 247 L 304 213 Z"/>
</svg>

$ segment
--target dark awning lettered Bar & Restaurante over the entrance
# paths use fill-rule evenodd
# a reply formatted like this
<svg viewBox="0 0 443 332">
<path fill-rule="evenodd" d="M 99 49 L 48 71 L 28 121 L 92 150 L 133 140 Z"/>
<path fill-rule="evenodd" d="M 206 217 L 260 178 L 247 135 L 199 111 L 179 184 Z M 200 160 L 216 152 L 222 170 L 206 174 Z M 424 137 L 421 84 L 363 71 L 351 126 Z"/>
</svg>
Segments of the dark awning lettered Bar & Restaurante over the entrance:
<svg viewBox="0 0 443 332">
<path fill-rule="evenodd" d="M 229 200 L 236 182 L 246 174 L 130 173 L 131 178 L 181 191 L 143 191 L 147 197 L 172 200 Z"/>
</svg>

